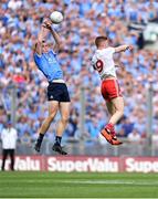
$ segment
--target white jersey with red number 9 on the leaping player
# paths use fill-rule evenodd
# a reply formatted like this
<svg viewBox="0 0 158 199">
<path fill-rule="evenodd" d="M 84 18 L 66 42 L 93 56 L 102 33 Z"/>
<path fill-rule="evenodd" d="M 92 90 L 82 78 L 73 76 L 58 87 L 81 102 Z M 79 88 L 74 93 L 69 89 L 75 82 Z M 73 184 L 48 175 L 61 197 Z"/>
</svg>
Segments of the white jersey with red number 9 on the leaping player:
<svg viewBox="0 0 158 199">
<path fill-rule="evenodd" d="M 92 57 L 92 64 L 97 70 L 102 80 L 108 75 L 116 77 L 116 69 L 113 60 L 114 53 L 115 49 L 109 46 L 103 50 L 96 50 Z"/>
</svg>

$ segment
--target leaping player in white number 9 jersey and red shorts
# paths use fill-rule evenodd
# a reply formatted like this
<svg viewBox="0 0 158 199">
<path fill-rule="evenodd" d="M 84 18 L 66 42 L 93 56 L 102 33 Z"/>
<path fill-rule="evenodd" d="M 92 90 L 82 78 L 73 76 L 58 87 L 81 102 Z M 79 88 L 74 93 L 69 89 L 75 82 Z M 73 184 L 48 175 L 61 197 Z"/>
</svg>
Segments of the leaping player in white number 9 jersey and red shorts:
<svg viewBox="0 0 158 199">
<path fill-rule="evenodd" d="M 112 48 L 108 45 L 106 36 L 97 36 L 95 39 L 95 45 L 96 51 L 92 57 L 92 65 L 101 76 L 101 92 L 106 101 L 107 109 L 110 115 L 109 122 L 105 128 L 102 129 L 101 134 L 112 145 L 120 145 L 122 142 L 117 139 L 114 126 L 124 114 L 124 100 L 117 81 L 113 55 L 114 53 L 123 52 L 128 49 L 131 50 L 133 48 L 130 45 Z"/>
</svg>

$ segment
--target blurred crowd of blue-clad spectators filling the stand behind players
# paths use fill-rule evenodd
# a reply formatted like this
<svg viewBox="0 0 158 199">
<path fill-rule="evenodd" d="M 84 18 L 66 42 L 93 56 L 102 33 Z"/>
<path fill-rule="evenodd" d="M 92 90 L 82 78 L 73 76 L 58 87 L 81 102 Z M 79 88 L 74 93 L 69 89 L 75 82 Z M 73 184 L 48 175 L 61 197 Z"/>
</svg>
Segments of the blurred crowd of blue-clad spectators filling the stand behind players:
<svg viewBox="0 0 158 199">
<path fill-rule="evenodd" d="M 32 48 L 43 17 L 64 13 L 53 25 L 61 35 L 59 60 L 71 94 L 71 117 L 64 138 L 97 138 L 108 115 L 101 95 L 101 81 L 89 59 L 97 35 L 110 45 L 131 44 L 134 50 L 116 54 L 117 76 L 125 100 L 125 115 L 116 126 L 118 136 L 147 136 L 147 91 L 154 87 L 154 125 L 158 134 L 158 52 L 146 49 L 143 29 L 158 22 L 155 0 L 1 0 L 0 1 L 0 130 L 11 112 L 10 92 L 17 91 L 15 127 L 21 143 L 30 144 L 48 114 L 48 82 L 33 61 Z M 52 40 L 50 38 L 50 40 Z M 85 90 L 85 132 L 80 132 L 81 88 Z M 56 116 L 46 136 L 54 138 Z"/>
</svg>

